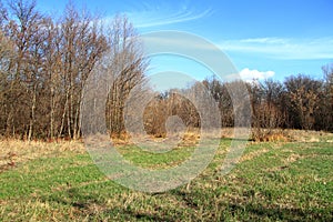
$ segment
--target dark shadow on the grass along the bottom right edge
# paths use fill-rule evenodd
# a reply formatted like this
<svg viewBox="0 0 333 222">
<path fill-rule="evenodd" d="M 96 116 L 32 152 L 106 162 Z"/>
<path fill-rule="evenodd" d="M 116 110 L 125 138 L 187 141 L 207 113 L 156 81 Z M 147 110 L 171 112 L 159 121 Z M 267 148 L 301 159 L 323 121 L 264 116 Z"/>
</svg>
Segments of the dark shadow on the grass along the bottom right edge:
<svg viewBox="0 0 333 222">
<path fill-rule="evenodd" d="M 181 191 L 174 190 L 171 192 L 175 198 L 185 202 L 188 208 L 200 209 L 212 209 L 212 203 L 214 201 L 214 193 L 200 190 L 196 191 Z M 243 198 L 243 196 L 241 196 Z M 200 200 L 201 199 L 201 200 Z M 202 205 L 202 203 L 208 203 L 208 205 Z M 219 200 L 219 209 L 221 212 L 221 216 L 215 220 L 228 220 L 230 216 L 234 218 L 235 220 L 262 220 L 262 219 L 270 219 L 273 221 L 333 221 L 333 213 L 330 209 L 289 209 L 289 208 L 274 208 L 266 206 L 265 204 L 270 204 L 269 202 L 262 201 L 262 203 L 253 202 L 252 200 L 249 201 L 240 201 L 235 203 L 235 200 Z M 208 210 L 209 211 L 209 210 Z M 211 212 L 208 212 L 209 214 Z M 211 216 L 214 218 L 214 214 L 211 213 Z"/>
</svg>

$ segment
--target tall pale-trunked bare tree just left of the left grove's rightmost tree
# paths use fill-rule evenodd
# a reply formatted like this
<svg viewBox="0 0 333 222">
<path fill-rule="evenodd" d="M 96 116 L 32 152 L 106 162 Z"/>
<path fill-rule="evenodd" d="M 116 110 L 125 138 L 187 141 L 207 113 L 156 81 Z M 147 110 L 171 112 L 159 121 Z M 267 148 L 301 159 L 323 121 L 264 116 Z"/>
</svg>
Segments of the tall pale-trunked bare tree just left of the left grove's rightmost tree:
<svg viewBox="0 0 333 222">
<path fill-rule="evenodd" d="M 108 49 L 104 36 L 100 32 L 98 19 L 88 12 L 79 13 L 68 4 L 61 22 L 61 79 L 64 83 L 65 99 L 59 135 L 67 124 L 69 138 L 80 137 L 81 94 L 88 74 Z"/>
</svg>

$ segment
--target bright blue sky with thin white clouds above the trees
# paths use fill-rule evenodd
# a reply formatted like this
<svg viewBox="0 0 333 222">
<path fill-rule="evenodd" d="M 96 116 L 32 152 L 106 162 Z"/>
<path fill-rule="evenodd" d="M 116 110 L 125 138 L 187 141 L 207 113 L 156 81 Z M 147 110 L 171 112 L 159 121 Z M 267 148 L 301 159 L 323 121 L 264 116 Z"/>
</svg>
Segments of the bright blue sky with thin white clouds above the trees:
<svg viewBox="0 0 333 222">
<path fill-rule="evenodd" d="M 332 0 L 72 0 L 103 14 L 125 13 L 139 33 L 179 30 L 218 46 L 244 79 L 284 80 L 304 73 L 322 78 L 333 62 Z M 61 13 L 67 0 L 39 0 L 42 11 Z M 172 70 L 199 77 L 199 64 L 175 58 L 153 60 L 155 71 Z"/>
</svg>

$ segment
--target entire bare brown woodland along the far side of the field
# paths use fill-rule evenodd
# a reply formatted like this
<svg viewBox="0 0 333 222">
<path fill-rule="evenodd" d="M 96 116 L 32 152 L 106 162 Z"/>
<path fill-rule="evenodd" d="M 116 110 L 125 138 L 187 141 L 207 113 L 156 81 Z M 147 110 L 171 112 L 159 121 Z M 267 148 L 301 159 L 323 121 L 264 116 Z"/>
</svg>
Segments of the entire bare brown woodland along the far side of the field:
<svg viewBox="0 0 333 222">
<path fill-rule="evenodd" d="M 82 90 L 107 52 L 111 61 L 108 70 L 117 77 L 108 94 L 107 125 L 111 135 L 125 132 L 125 100 L 135 85 L 145 83 L 149 68 L 135 38 L 139 33 L 125 16 L 115 16 L 107 23 L 100 14 L 69 3 L 60 17 L 52 17 L 39 11 L 36 1 L 24 0 L 0 2 L 0 13 L 1 138 L 80 139 Z M 322 70 L 322 79 L 293 73 L 282 82 L 244 82 L 251 99 L 252 127 L 332 132 L 333 64 L 323 64 Z M 219 104 L 221 127 L 232 128 L 228 87 L 238 82 L 211 77 L 201 84 Z M 189 128 L 200 127 L 193 104 L 170 91 L 145 108 L 147 132 L 164 137 L 163 125 L 170 115 L 179 115 Z"/>
</svg>

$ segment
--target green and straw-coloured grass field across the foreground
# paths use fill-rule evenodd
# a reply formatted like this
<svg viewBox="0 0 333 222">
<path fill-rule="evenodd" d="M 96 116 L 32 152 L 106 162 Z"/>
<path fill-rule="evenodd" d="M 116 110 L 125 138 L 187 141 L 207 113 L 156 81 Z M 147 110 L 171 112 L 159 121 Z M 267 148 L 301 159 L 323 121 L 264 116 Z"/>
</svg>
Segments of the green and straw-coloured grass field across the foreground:
<svg viewBox="0 0 333 222">
<path fill-rule="evenodd" d="M 302 133 L 299 141 L 249 143 L 224 176 L 219 167 L 231 140 L 223 139 L 203 173 L 159 194 L 105 179 L 82 143 L 2 141 L 0 221 L 332 221 L 333 135 Z M 192 151 L 119 150 L 145 168 L 168 167 Z"/>
</svg>

